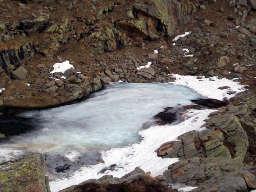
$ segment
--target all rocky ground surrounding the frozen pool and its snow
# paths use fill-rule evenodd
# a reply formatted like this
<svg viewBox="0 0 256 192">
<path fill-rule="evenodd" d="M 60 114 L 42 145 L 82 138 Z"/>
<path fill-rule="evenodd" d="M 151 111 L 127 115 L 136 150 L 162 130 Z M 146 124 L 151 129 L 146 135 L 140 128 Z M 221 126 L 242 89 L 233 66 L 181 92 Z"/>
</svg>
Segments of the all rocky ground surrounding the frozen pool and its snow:
<svg viewBox="0 0 256 192">
<path fill-rule="evenodd" d="M 0 105 L 51 106 L 118 80 L 172 82 L 172 73 L 237 78 L 249 90 L 218 106 L 206 130 L 187 132 L 156 150 L 159 158 L 180 158 L 156 181 L 196 186 L 194 191 L 256 189 L 255 0 L 25 2 L 0 5 Z M 52 74 L 52 65 L 65 60 L 74 69 Z M 137 69 L 148 62 L 149 68 Z M 50 191 L 40 154 L 0 167 L 1 191 Z M 144 174 L 137 169 L 120 180 L 106 176 L 64 191 L 129 183 Z"/>
</svg>

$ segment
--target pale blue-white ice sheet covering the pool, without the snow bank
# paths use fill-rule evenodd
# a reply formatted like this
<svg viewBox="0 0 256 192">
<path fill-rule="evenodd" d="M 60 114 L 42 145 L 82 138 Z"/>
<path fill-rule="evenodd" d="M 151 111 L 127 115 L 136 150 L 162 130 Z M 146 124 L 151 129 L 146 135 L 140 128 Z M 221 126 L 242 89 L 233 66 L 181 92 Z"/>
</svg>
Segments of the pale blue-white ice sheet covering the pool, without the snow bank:
<svg viewBox="0 0 256 192">
<path fill-rule="evenodd" d="M 198 97 L 171 84 L 111 84 L 83 102 L 21 114 L 34 118 L 38 128 L 13 136 L 8 146 L 39 152 L 126 146 L 139 142 L 143 123 L 165 107 L 191 104 Z"/>
</svg>

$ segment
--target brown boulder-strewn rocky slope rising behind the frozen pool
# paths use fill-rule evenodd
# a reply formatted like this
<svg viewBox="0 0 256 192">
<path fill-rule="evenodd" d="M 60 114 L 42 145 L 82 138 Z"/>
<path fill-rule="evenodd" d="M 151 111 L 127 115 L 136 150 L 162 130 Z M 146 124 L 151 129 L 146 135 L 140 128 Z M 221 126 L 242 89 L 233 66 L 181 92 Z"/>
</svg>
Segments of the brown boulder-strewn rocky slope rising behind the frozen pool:
<svg viewBox="0 0 256 192">
<path fill-rule="evenodd" d="M 255 84 L 253 1 L 26 2 L 0 5 L 1 105 L 56 105 L 118 80 L 170 82 L 169 73 Z M 50 73 L 65 60 L 78 71 Z M 148 61 L 151 68 L 136 69 Z"/>
</svg>

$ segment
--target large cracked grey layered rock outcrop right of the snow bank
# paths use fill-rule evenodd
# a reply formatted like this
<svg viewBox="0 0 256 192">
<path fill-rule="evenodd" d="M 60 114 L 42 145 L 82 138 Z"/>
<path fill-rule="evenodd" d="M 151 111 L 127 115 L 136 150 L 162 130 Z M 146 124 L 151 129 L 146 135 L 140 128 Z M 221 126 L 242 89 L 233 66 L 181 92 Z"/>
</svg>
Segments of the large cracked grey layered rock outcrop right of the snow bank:
<svg viewBox="0 0 256 192">
<path fill-rule="evenodd" d="M 210 114 L 202 125 L 206 130 L 163 144 L 159 157 L 181 159 L 163 173 L 167 182 L 198 186 L 194 191 L 255 189 L 255 103 L 252 93 L 239 93 L 230 105 Z"/>
</svg>

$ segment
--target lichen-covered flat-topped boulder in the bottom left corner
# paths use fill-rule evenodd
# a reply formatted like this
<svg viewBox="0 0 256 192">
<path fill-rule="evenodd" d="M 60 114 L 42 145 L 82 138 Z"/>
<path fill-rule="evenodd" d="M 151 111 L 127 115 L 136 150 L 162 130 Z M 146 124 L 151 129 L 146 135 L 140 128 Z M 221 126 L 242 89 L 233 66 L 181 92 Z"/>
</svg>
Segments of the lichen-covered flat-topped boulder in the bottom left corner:
<svg viewBox="0 0 256 192">
<path fill-rule="evenodd" d="M 32 153 L 0 164 L 0 191 L 49 192 L 42 154 Z"/>
</svg>

